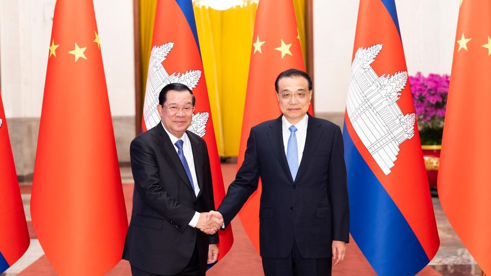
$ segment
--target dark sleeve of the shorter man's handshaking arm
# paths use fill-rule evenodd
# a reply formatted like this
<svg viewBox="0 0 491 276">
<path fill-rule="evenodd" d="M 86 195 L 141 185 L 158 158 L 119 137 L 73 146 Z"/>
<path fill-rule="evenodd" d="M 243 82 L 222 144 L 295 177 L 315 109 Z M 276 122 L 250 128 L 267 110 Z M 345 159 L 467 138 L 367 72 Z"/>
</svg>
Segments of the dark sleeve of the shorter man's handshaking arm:
<svg viewBox="0 0 491 276">
<path fill-rule="evenodd" d="M 162 215 L 179 231 L 184 232 L 195 211 L 172 198 L 160 184 L 158 164 L 154 154 L 140 139 L 130 146 L 131 167 L 135 190 L 143 202 Z"/>
</svg>

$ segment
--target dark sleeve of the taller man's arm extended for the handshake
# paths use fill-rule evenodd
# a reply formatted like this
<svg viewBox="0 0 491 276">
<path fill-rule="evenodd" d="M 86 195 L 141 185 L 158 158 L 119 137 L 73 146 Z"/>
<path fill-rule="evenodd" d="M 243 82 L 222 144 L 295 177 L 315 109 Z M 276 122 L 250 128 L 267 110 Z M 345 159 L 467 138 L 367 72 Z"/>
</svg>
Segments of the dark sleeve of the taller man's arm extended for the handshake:
<svg viewBox="0 0 491 276">
<path fill-rule="evenodd" d="M 227 195 L 218 207 L 218 212 L 223 215 L 225 227 L 237 215 L 254 191 L 258 189 L 260 162 L 254 129 L 254 127 L 251 128 L 249 133 L 244 161 L 235 176 L 235 180 L 228 186 Z"/>
</svg>

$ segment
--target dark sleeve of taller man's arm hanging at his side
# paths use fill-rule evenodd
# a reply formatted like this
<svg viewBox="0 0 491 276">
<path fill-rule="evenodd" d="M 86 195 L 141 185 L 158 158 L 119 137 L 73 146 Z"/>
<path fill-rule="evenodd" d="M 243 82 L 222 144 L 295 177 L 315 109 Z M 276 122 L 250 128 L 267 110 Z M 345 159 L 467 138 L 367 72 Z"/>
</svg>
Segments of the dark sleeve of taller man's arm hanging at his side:
<svg viewBox="0 0 491 276">
<path fill-rule="evenodd" d="M 329 202 L 331 203 L 332 239 L 349 242 L 349 204 L 341 129 L 334 131 L 328 171 Z"/>
</svg>

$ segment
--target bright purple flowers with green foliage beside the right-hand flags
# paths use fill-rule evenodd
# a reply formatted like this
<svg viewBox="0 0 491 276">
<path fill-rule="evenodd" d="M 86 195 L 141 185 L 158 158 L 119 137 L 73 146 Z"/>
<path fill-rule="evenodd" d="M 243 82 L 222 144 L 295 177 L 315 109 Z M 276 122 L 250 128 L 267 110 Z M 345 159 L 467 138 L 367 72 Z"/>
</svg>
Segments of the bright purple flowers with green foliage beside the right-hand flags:
<svg viewBox="0 0 491 276">
<path fill-rule="evenodd" d="M 441 145 L 449 82 L 449 75 L 409 77 L 421 145 Z"/>
</svg>

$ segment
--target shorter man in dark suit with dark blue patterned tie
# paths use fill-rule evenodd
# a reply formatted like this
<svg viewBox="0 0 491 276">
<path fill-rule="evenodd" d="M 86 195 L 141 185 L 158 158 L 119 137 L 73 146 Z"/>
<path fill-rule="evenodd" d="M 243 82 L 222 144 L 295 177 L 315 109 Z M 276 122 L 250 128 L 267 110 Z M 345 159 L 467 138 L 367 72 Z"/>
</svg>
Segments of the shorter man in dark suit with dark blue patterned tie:
<svg viewBox="0 0 491 276">
<path fill-rule="evenodd" d="M 157 106 L 162 122 L 131 143 L 135 189 L 123 258 L 134 276 L 204 275 L 218 256 L 222 222 L 213 225 L 204 213 L 214 209 L 208 150 L 187 131 L 194 104 L 186 85 L 166 85 Z"/>
</svg>

